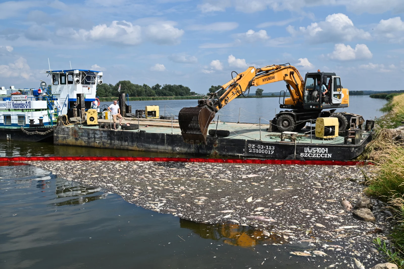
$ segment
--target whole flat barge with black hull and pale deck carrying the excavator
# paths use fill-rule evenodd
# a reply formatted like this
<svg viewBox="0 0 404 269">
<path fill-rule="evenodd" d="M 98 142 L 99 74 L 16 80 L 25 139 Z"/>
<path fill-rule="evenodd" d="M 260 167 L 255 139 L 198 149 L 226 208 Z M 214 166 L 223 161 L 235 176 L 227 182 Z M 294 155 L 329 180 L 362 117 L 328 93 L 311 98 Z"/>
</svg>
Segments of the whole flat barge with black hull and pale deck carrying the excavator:
<svg viewBox="0 0 404 269">
<path fill-rule="evenodd" d="M 372 132 L 361 131 L 355 143 L 342 134 L 333 139 L 319 139 L 310 126 L 297 132 L 295 138 L 282 139 L 281 132 L 267 132 L 268 124 L 212 122 L 209 130 L 229 130 L 227 137 L 208 135 L 207 144 L 185 143 L 176 120 L 124 118 L 122 123 L 139 123 L 136 130 L 100 128 L 112 125 L 110 120 L 98 120 L 99 125 L 56 126 L 54 143 L 108 149 L 126 149 L 186 154 L 195 157 L 295 159 L 295 160 L 352 160 L 362 153 L 372 139 Z M 314 130 L 314 127 L 313 127 Z M 342 135 L 342 136 L 341 136 Z M 288 137 L 288 136 L 286 136 Z"/>
</svg>

